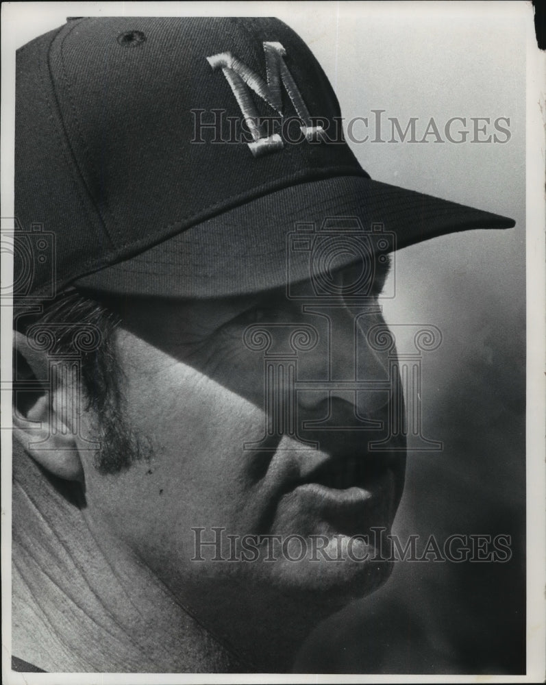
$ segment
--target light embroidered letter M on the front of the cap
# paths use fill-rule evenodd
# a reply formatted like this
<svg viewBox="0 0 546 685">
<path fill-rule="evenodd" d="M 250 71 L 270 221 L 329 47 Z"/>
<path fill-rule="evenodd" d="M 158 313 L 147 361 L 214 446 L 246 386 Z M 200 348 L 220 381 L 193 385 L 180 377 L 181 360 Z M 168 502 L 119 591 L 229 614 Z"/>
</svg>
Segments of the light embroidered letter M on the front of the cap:
<svg viewBox="0 0 546 685">
<path fill-rule="evenodd" d="M 268 135 L 266 128 L 260 124 L 258 111 L 253 103 L 250 90 L 264 100 L 275 112 L 284 116 L 282 111 L 282 86 L 286 89 L 299 119 L 303 121 L 301 132 L 306 140 L 319 140 L 323 135 L 322 126 L 312 126 L 311 117 L 303 102 L 295 81 L 284 63 L 286 50 L 280 42 L 264 42 L 266 81 L 252 71 L 245 62 L 241 62 L 230 52 L 222 52 L 207 58 L 212 69 L 221 69 L 231 86 L 241 112 L 249 127 L 252 142 L 248 143 L 256 157 L 268 152 L 282 149 L 284 144 L 279 134 Z"/>
</svg>

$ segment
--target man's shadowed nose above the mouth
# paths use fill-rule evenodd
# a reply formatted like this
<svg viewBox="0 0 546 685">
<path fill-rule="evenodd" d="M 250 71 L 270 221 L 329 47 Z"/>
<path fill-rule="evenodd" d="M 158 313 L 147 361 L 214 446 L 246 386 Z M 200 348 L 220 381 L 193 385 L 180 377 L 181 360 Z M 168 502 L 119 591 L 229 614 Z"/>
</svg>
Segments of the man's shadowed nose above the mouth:
<svg viewBox="0 0 546 685">
<path fill-rule="evenodd" d="M 380 412 L 393 392 L 388 355 L 378 351 L 377 345 L 372 347 L 368 336 L 372 326 L 383 323 L 380 308 L 330 304 L 308 306 L 306 314 L 320 320 L 316 320 L 319 342 L 301 358 L 298 373 L 298 404 L 303 413 L 324 413 L 325 402 L 331 407 L 334 399 L 352 405 L 362 419 Z"/>
</svg>

